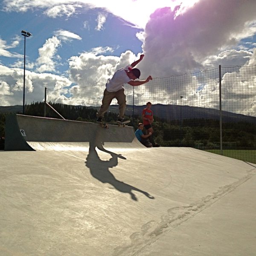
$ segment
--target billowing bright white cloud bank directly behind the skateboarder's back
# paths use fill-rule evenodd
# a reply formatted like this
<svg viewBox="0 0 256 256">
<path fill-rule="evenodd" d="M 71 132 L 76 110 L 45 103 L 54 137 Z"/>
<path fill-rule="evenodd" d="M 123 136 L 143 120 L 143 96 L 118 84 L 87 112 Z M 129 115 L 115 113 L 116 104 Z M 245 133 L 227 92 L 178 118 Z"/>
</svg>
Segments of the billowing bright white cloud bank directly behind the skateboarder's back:
<svg viewBox="0 0 256 256">
<path fill-rule="evenodd" d="M 73 56 L 69 60 L 69 79 L 76 85 L 66 90 L 49 92 L 49 100 L 70 105 L 99 106 L 107 80 L 117 69 L 132 63 L 136 58 L 131 51 L 116 57 L 96 55 L 95 49 Z"/>
</svg>

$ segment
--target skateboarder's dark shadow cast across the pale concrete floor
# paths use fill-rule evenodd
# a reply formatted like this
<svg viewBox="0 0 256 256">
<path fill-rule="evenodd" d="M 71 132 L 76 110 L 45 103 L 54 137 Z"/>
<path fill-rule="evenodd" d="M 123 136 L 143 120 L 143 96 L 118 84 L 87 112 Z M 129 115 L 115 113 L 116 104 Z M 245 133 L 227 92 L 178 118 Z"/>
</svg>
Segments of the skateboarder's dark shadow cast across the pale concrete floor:
<svg viewBox="0 0 256 256">
<path fill-rule="evenodd" d="M 101 160 L 99 158 L 99 155 L 96 151 L 96 147 L 111 155 L 110 160 Z M 144 194 L 146 197 L 150 199 L 154 199 L 152 195 L 150 195 L 148 192 L 145 192 L 141 189 L 138 189 L 134 186 L 131 186 L 129 184 L 126 184 L 120 180 L 117 180 L 115 176 L 109 171 L 110 168 L 113 168 L 118 165 L 118 158 L 126 160 L 125 157 L 123 157 L 121 154 L 116 154 L 111 151 L 106 150 L 102 142 L 98 143 L 90 143 L 89 148 L 89 154 L 87 155 L 85 165 L 90 169 L 90 173 L 93 177 L 95 177 L 97 180 L 101 181 L 102 183 L 109 183 L 111 184 L 116 190 L 122 192 L 122 193 L 128 193 L 131 195 L 131 199 L 134 201 L 137 201 L 136 195 L 132 192 L 138 191 L 142 194 Z"/>
</svg>

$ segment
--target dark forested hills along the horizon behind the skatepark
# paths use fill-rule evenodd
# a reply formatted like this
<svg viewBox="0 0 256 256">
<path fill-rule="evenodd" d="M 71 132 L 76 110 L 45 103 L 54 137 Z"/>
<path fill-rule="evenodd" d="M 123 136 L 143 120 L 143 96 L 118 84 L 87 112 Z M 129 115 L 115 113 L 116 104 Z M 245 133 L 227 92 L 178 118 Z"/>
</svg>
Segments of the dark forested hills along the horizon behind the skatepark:
<svg viewBox="0 0 256 256">
<path fill-rule="evenodd" d="M 96 122 L 96 108 L 52 104 L 65 119 Z M 132 119 L 132 106 L 127 106 L 126 118 L 137 129 L 142 121 L 141 112 L 145 106 L 134 106 L 134 119 Z M 2 108 L 3 109 L 3 108 Z M 22 113 L 20 109 L 10 107 L 9 111 L 2 112 L 0 107 L 0 136 L 5 136 L 5 117 L 7 112 Z M 27 105 L 25 114 L 30 116 L 44 116 L 44 102 L 34 102 Z M 204 147 L 214 147 L 220 141 L 219 111 L 205 108 L 192 108 L 188 106 L 153 105 L 154 111 L 154 137 L 162 146 L 191 146 L 203 144 Z M 180 110 L 181 119 L 180 120 Z M 111 106 L 105 113 L 105 121 L 113 122 L 117 118 L 117 106 Z M 189 112 L 190 111 L 190 112 Z M 200 112 L 201 111 L 201 112 Z M 47 117 L 60 118 L 50 108 L 47 108 Z M 235 142 L 237 147 L 256 147 L 256 117 L 223 113 L 222 138 L 224 142 Z M 233 120 L 233 121 L 230 121 Z M 229 122 L 227 122 L 229 121 Z"/>
</svg>

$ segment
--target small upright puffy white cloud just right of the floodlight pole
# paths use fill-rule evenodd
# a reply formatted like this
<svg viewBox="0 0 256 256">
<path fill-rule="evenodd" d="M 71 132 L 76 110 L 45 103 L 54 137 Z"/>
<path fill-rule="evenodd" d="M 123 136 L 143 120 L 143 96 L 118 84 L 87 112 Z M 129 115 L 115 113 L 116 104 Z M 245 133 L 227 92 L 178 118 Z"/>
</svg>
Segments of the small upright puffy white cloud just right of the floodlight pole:
<svg viewBox="0 0 256 256">
<path fill-rule="evenodd" d="M 52 38 L 47 39 L 43 47 L 38 49 L 39 57 L 37 59 L 38 63 L 38 72 L 45 71 L 55 71 L 55 54 L 57 52 L 57 48 L 61 45 L 61 41 L 53 36 Z M 57 56 L 58 57 L 58 56 Z"/>
</svg>

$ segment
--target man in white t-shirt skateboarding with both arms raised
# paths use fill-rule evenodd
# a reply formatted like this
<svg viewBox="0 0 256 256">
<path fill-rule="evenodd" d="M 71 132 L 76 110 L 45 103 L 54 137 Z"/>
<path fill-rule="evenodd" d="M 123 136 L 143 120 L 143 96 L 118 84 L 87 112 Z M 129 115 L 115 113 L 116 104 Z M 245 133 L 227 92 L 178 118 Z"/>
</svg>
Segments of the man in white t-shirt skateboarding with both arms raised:
<svg viewBox="0 0 256 256">
<path fill-rule="evenodd" d="M 117 70 L 111 79 L 108 79 L 106 83 L 106 89 L 103 93 L 102 105 L 99 108 L 96 116 L 98 117 L 97 122 L 102 122 L 102 118 L 104 113 L 108 111 L 108 107 L 110 106 L 112 99 L 116 98 L 117 103 L 119 105 L 119 115 L 116 122 L 123 122 L 126 108 L 126 96 L 125 89 L 123 84 L 127 83 L 131 86 L 139 86 L 141 84 L 145 84 L 148 81 L 152 80 L 151 76 L 148 76 L 146 80 L 142 81 L 134 81 L 135 79 L 140 78 L 140 70 L 134 68 L 140 61 L 142 61 L 144 55 L 140 55 L 140 59 L 134 61 L 131 65 L 128 65 L 124 68 L 120 68 Z"/>
</svg>

